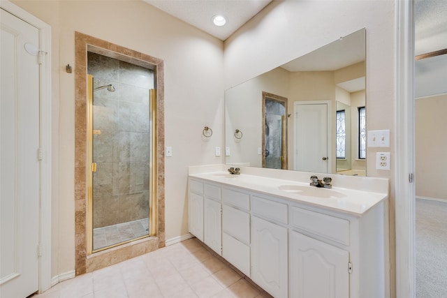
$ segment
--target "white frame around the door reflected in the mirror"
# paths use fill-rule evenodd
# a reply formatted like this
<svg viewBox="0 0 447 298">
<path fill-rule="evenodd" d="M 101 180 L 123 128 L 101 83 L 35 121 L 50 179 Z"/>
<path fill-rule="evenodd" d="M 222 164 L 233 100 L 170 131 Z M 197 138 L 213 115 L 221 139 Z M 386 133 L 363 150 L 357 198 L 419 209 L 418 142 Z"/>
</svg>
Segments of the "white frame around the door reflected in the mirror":
<svg viewBox="0 0 447 298">
<path fill-rule="evenodd" d="M 332 154 L 332 101 L 331 100 L 303 100 L 303 101 L 295 101 L 293 102 L 293 170 L 296 169 L 296 161 L 295 161 L 295 156 L 296 156 L 296 151 L 297 151 L 297 146 L 296 146 L 296 141 L 295 140 L 295 128 L 297 125 L 297 119 L 296 119 L 296 112 L 297 112 L 297 105 L 321 105 L 321 104 L 325 104 L 328 106 L 328 119 L 326 121 L 328 121 L 327 126 L 328 126 L 328 145 L 327 145 L 327 149 L 328 149 L 328 164 L 326 166 L 326 173 L 330 174 L 332 172 L 332 160 L 334 159 L 334 154 Z"/>
</svg>

